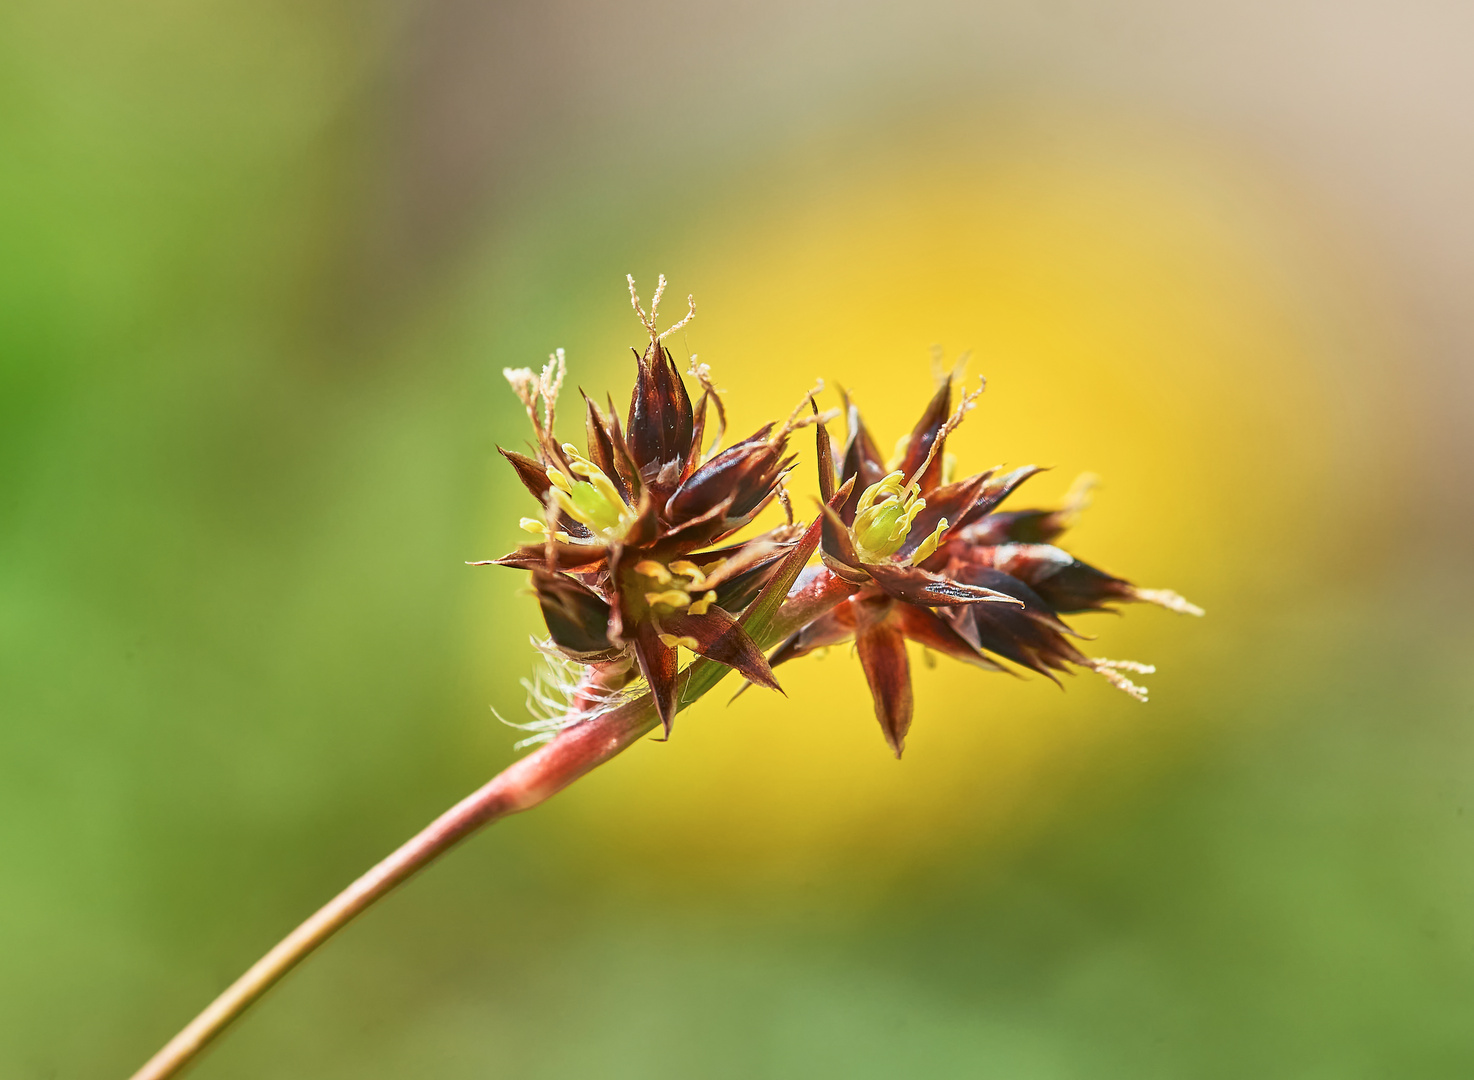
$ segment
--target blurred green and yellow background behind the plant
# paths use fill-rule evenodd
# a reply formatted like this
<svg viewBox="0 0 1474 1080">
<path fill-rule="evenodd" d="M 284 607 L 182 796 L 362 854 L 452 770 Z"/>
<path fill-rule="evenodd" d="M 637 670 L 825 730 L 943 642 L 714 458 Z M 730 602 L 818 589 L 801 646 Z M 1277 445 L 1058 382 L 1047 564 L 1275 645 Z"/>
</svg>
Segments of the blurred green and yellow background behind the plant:
<svg viewBox="0 0 1474 1080">
<path fill-rule="evenodd" d="M 715 694 L 382 903 L 227 1077 L 1474 1074 L 1474 13 L 0 9 L 0 1074 L 121 1077 L 513 759 L 506 365 L 1103 477 L 1098 679 Z M 572 432 L 570 432 L 572 433 Z M 808 491 L 805 476 L 800 491 Z M 803 499 L 800 499 L 800 505 Z"/>
</svg>

